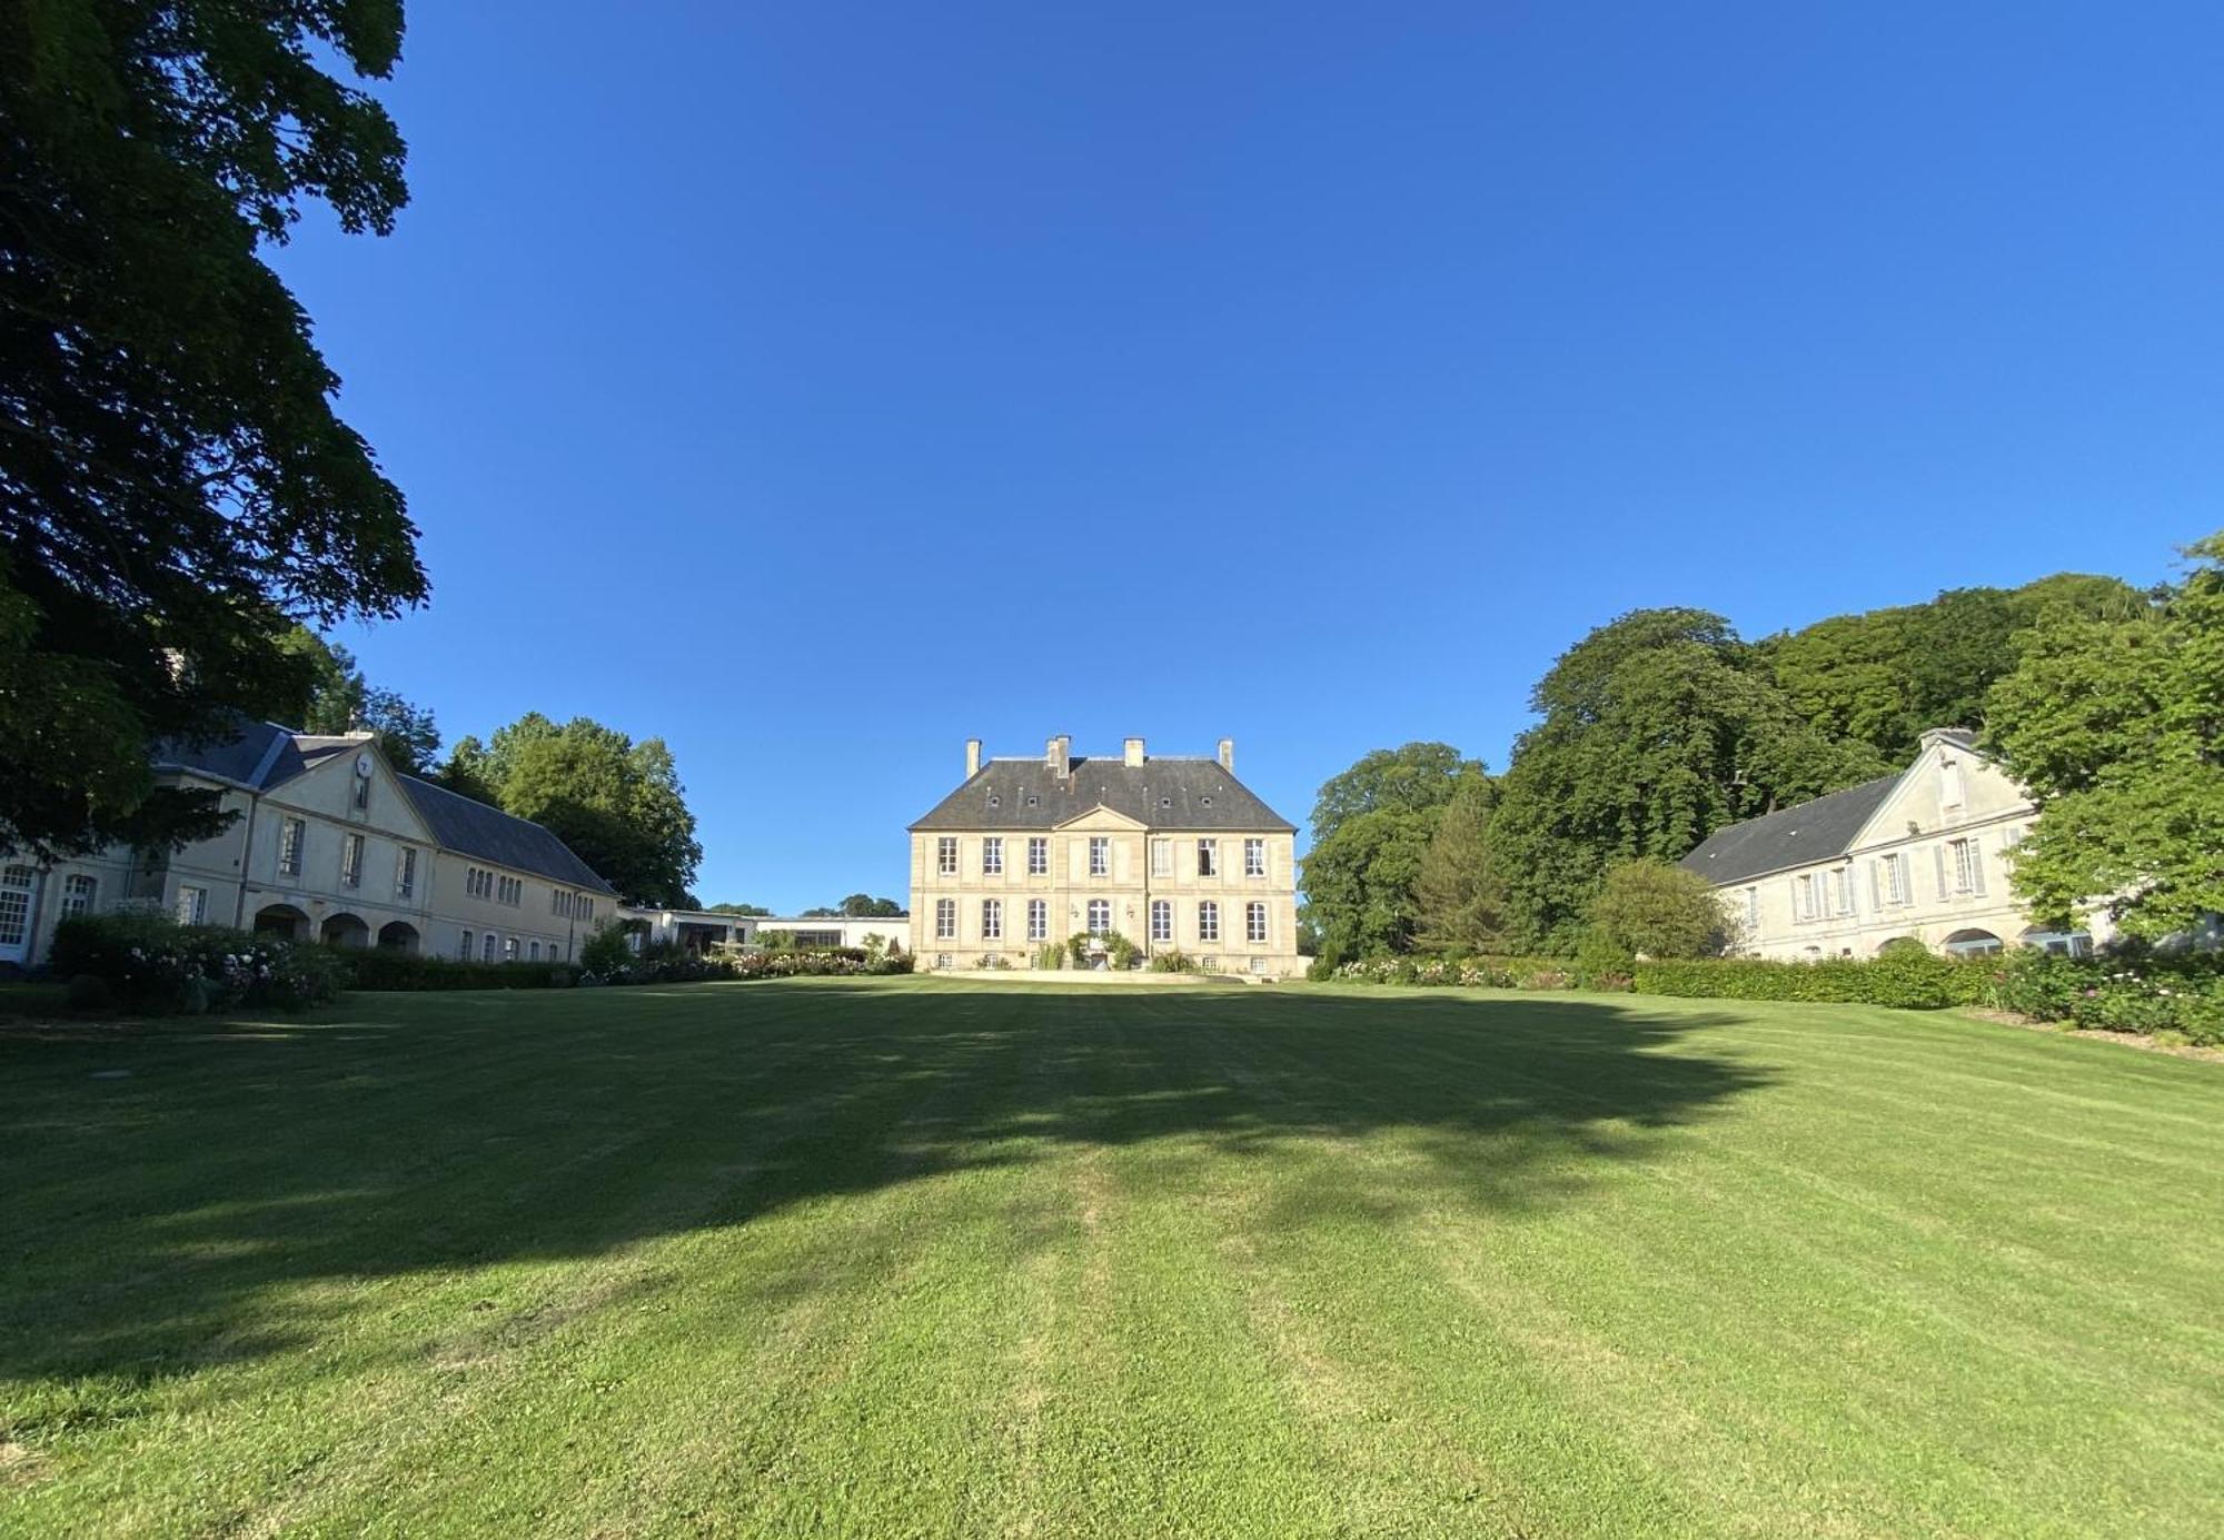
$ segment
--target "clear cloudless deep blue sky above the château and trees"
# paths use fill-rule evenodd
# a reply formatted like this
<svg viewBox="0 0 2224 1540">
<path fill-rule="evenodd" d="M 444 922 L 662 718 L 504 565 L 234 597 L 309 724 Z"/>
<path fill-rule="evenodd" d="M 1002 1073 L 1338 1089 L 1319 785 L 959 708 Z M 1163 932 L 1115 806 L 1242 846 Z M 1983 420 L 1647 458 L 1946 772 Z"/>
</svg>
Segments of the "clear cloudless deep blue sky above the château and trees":
<svg viewBox="0 0 2224 1540">
<path fill-rule="evenodd" d="M 280 267 L 449 739 L 678 754 L 705 901 L 898 895 L 965 737 L 1503 766 L 1590 625 L 2224 525 L 2215 7 L 429 4 Z"/>
</svg>

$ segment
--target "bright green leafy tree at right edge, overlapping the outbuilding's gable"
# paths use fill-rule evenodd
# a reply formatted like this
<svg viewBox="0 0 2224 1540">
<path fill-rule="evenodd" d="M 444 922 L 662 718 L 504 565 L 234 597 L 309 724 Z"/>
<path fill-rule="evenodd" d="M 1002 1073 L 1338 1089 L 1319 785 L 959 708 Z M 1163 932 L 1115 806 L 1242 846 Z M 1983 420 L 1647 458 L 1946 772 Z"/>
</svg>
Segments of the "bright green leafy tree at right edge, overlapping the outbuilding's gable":
<svg viewBox="0 0 2224 1540">
<path fill-rule="evenodd" d="M 2095 619 L 2055 605 L 1990 694 L 1990 741 L 2044 817 L 2015 890 L 2071 926 L 2099 901 L 2135 937 L 2224 912 L 2224 532 L 2157 605 Z"/>
</svg>

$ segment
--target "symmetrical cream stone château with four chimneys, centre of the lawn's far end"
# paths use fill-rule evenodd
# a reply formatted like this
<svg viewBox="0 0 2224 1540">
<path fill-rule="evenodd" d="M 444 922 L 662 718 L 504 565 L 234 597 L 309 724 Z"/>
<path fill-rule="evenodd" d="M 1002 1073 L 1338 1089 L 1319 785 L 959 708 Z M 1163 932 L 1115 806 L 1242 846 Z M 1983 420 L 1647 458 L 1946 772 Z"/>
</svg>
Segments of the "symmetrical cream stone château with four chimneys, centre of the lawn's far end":
<svg viewBox="0 0 2224 1540">
<path fill-rule="evenodd" d="M 1145 957 L 1181 950 L 1217 973 L 1297 977 L 1297 826 L 1212 759 L 1128 739 L 1116 759 L 981 759 L 912 823 L 912 952 L 925 968 L 1030 968 L 1081 932 Z"/>
</svg>

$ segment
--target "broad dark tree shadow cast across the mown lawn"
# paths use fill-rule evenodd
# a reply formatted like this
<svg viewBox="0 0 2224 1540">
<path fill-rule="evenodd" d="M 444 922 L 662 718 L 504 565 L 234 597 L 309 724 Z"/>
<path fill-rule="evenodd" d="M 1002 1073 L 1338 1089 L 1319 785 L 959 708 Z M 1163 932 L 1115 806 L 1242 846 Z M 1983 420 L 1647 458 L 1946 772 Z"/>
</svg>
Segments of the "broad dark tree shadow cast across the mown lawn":
<svg viewBox="0 0 2224 1540">
<path fill-rule="evenodd" d="M 1257 1171 L 1277 1226 L 1521 1213 L 1770 1079 L 1677 1050 L 1726 1015 L 1608 999 L 803 981 L 351 1006 L 0 1033 L 0 1380 L 151 1384 L 314 1340 L 356 1280 L 1090 1146 L 1148 1148 L 1121 1166 L 1143 1202 Z M 1072 1220 L 1056 1184 L 1030 1213 L 947 1202 L 1043 1244 Z"/>
</svg>

